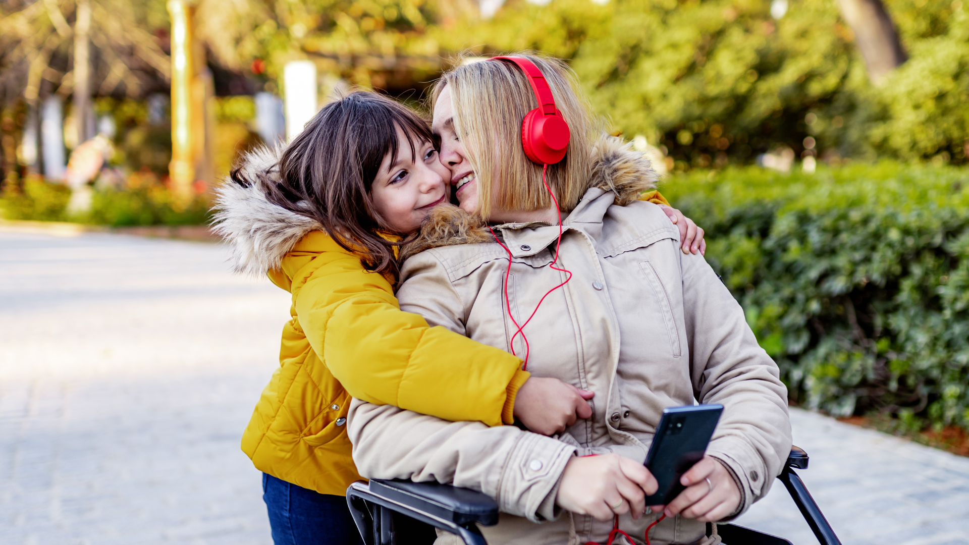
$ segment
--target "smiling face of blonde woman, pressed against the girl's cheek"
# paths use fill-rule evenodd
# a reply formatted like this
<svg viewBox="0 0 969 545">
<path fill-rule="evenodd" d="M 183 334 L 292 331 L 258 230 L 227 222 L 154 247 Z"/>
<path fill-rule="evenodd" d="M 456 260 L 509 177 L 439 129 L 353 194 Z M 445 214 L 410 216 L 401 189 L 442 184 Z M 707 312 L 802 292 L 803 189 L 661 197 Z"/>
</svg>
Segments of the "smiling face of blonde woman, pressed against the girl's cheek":
<svg viewBox="0 0 969 545">
<path fill-rule="evenodd" d="M 451 87 L 444 87 L 434 105 L 431 131 L 440 141 L 441 163 L 450 171 L 448 180 L 454 187 L 454 196 L 460 207 L 469 213 L 478 211 L 478 178 L 464 153 L 464 145 L 454 130 L 454 113 L 451 104 Z"/>
</svg>

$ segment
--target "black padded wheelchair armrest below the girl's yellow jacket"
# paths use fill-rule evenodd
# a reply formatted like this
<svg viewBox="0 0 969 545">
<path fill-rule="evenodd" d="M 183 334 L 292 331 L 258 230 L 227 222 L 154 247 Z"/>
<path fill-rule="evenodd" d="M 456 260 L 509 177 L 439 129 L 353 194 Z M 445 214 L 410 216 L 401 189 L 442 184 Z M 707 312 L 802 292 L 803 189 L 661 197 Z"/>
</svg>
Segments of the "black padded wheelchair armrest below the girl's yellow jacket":
<svg viewBox="0 0 969 545">
<path fill-rule="evenodd" d="M 371 479 L 370 491 L 457 526 L 498 524 L 498 503 L 491 497 L 466 488 L 434 482 Z"/>
</svg>

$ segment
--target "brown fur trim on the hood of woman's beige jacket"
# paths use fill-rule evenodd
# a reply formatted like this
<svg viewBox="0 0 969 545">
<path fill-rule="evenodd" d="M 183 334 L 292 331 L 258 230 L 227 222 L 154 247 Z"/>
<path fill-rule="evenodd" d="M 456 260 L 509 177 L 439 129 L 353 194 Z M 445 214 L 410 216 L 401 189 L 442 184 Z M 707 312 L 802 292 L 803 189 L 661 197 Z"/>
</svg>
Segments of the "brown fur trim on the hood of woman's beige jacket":
<svg viewBox="0 0 969 545">
<path fill-rule="evenodd" d="M 659 179 L 641 152 L 616 137 L 604 136 L 592 148 L 592 176 L 585 191 L 597 188 L 615 194 L 613 204 L 624 207 L 656 188 Z M 423 222 L 417 239 L 400 249 L 403 261 L 424 250 L 453 244 L 494 240 L 485 221 L 460 208 L 438 207 Z"/>
</svg>

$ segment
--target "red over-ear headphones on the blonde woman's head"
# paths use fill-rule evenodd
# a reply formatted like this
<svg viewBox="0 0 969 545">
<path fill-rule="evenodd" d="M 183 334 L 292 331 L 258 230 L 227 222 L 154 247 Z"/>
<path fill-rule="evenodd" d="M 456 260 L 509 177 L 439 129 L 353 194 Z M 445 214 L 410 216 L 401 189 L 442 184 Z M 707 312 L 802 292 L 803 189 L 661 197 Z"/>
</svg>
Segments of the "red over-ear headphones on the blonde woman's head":
<svg viewBox="0 0 969 545">
<path fill-rule="evenodd" d="M 525 155 L 540 165 L 554 165 L 563 158 L 569 148 L 569 124 L 562 118 L 562 112 L 555 108 L 555 99 L 542 71 L 523 57 L 491 57 L 488 60 L 503 60 L 517 65 L 528 77 L 535 91 L 539 107 L 525 114 L 521 121 L 521 146 Z"/>
</svg>

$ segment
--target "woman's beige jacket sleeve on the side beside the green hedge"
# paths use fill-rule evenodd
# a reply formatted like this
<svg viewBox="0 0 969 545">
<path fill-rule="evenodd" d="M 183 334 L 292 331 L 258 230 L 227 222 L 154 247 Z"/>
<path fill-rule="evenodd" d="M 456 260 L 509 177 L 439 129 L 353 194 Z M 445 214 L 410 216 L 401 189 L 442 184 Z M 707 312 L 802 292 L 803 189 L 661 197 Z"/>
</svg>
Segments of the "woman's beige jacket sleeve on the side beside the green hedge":
<svg viewBox="0 0 969 545">
<path fill-rule="evenodd" d="M 683 274 L 694 395 L 724 405 L 706 453 L 728 467 L 740 488 L 736 516 L 766 496 L 791 452 L 787 387 L 703 256 L 675 254 Z"/>
</svg>

